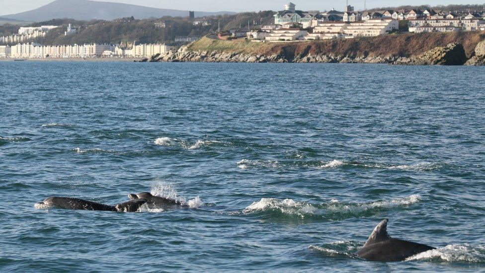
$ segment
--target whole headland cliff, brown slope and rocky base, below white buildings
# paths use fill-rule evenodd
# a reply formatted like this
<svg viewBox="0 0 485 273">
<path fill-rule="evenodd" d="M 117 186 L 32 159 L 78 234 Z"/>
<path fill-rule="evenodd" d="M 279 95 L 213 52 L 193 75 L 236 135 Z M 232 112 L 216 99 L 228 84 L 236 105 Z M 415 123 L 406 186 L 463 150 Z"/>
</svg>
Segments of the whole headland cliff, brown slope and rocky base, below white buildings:
<svg viewBox="0 0 485 273">
<path fill-rule="evenodd" d="M 469 59 L 467 56 L 482 56 L 476 53 L 476 48 L 484 39 L 484 32 L 401 34 L 288 43 L 221 41 L 203 37 L 178 51 L 158 56 L 154 61 L 463 65 Z"/>
</svg>

